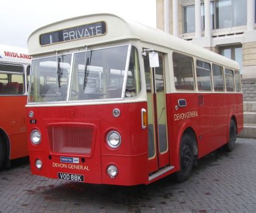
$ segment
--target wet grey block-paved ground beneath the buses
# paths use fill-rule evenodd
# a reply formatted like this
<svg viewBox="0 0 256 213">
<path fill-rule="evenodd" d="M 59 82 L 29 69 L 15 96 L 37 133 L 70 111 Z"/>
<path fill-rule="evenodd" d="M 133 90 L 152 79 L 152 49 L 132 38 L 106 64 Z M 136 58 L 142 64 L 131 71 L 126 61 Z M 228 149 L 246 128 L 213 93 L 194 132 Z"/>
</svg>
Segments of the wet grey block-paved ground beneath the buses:
<svg viewBox="0 0 256 213">
<path fill-rule="evenodd" d="M 0 171 L 0 212 L 256 212 L 256 139 L 199 160 L 185 183 L 107 186 L 30 174 L 27 161 Z"/>
</svg>

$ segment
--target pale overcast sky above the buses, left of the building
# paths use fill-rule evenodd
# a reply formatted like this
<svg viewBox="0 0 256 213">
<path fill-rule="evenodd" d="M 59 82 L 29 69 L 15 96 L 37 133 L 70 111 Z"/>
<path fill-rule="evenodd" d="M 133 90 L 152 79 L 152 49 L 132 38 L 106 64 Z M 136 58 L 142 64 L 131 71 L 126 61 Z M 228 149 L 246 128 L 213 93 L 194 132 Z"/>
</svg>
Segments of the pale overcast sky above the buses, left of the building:
<svg viewBox="0 0 256 213">
<path fill-rule="evenodd" d="M 27 48 L 27 38 L 39 27 L 91 13 L 156 26 L 155 0 L 1 0 L 0 44 Z"/>
</svg>

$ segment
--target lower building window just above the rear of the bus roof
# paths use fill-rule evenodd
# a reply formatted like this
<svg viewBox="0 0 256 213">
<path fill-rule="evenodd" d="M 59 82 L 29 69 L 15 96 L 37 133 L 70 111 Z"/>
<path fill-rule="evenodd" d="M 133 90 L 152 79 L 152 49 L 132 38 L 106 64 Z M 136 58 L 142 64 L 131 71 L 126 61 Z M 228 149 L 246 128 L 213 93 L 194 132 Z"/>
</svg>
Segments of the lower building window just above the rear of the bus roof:
<svg viewBox="0 0 256 213">
<path fill-rule="evenodd" d="M 240 69 L 243 68 L 243 49 L 241 45 L 219 47 L 219 54 L 237 61 L 240 65 Z"/>
</svg>

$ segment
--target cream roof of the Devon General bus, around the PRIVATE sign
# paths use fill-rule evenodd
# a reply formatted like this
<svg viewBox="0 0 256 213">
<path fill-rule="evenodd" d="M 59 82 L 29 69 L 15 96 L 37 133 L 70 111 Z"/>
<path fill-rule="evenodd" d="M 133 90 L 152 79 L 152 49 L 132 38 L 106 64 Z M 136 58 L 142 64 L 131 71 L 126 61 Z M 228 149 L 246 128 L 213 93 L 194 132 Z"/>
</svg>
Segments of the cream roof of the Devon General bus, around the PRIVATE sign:
<svg viewBox="0 0 256 213">
<path fill-rule="evenodd" d="M 44 33 L 54 32 L 57 30 L 70 29 L 76 26 L 85 24 L 97 23 L 104 21 L 106 23 L 106 33 L 99 37 L 87 37 L 78 40 L 60 42 L 41 46 L 40 35 Z M 121 40 L 140 40 L 146 43 L 157 44 L 162 47 L 172 49 L 174 51 L 183 52 L 185 54 L 194 55 L 198 58 L 229 66 L 230 68 L 240 69 L 236 61 L 222 57 L 212 51 L 208 51 L 202 47 L 198 47 L 188 41 L 173 37 L 162 30 L 144 26 L 143 24 L 134 21 L 126 21 L 123 18 L 112 14 L 94 14 L 85 15 L 75 18 L 66 19 L 48 26 L 41 27 L 35 30 L 27 41 L 27 46 L 30 55 L 40 55 L 48 52 L 64 51 L 79 47 L 91 46 L 100 43 L 113 43 Z"/>
</svg>

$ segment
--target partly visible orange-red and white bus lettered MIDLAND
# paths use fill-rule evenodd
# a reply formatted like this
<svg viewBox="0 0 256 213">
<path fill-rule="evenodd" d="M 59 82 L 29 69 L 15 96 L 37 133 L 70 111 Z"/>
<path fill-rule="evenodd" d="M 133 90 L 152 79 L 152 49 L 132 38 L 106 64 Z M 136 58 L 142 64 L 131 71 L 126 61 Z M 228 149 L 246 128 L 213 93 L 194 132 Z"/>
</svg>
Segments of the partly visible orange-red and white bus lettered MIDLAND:
<svg viewBox="0 0 256 213">
<path fill-rule="evenodd" d="M 0 44 L 0 167 L 29 155 L 25 105 L 30 63 L 27 49 Z"/>
</svg>

